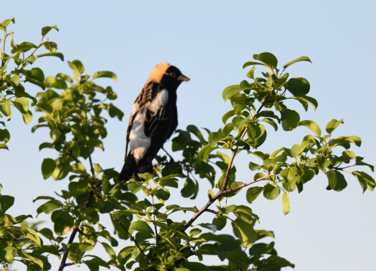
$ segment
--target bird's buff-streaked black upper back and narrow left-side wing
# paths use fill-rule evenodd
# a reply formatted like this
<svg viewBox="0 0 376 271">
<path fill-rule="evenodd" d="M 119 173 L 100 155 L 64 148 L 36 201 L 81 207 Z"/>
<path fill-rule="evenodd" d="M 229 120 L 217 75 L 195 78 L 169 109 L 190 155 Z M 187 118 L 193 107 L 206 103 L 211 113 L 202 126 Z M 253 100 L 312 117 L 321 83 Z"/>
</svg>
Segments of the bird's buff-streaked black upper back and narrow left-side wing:
<svg viewBox="0 0 376 271">
<path fill-rule="evenodd" d="M 160 84 L 151 81 L 144 86 L 141 93 L 138 95 L 135 102 L 133 103 L 132 114 L 130 115 L 127 129 L 125 157 L 127 157 L 128 154 L 129 135 L 130 131 L 132 130 L 133 121 L 135 120 L 136 115 L 141 109 L 147 106 L 147 104 L 156 97 L 156 95 L 158 94 L 158 92 L 161 91 L 161 89 L 162 86 Z"/>
</svg>

